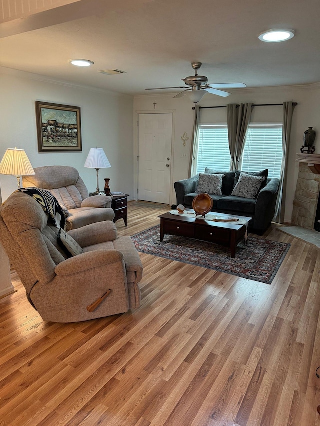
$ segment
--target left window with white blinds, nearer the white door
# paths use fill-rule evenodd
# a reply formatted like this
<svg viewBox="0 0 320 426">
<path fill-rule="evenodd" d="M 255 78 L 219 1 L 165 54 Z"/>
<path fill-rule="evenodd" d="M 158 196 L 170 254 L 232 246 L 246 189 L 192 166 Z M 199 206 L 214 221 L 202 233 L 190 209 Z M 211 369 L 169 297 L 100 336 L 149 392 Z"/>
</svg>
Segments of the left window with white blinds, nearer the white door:
<svg viewBox="0 0 320 426">
<path fill-rule="evenodd" d="M 230 170 L 228 128 L 226 124 L 201 124 L 198 134 L 196 173 L 203 173 L 205 167 L 216 170 Z"/>
</svg>

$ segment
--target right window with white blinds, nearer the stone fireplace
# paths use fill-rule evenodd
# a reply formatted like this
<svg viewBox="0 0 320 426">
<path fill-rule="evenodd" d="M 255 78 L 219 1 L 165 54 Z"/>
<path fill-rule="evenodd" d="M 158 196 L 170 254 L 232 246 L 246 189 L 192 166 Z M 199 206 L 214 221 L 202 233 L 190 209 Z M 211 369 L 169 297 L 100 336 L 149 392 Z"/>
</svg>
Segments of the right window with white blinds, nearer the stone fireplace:
<svg viewBox="0 0 320 426">
<path fill-rule="evenodd" d="M 250 124 L 245 139 L 241 170 L 268 169 L 268 177 L 280 177 L 282 124 Z"/>
</svg>

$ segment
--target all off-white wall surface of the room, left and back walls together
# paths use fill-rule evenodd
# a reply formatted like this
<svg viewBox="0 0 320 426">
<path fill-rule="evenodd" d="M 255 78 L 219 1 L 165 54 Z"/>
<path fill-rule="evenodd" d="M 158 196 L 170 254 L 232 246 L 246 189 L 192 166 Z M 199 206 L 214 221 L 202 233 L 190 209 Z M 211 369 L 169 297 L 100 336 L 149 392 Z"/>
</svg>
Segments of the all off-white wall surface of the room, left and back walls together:
<svg viewBox="0 0 320 426">
<path fill-rule="evenodd" d="M 96 188 L 96 172 L 83 167 L 91 147 L 103 147 L 112 165 L 100 169 L 99 187 L 104 187 L 103 177 L 110 177 L 111 191 L 130 194 L 137 199 L 137 114 L 139 112 L 172 112 L 173 156 L 170 203 L 175 203 L 173 183 L 187 177 L 190 142 L 193 127 L 194 104 L 187 96 L 173 99 L 173 94 L 121 95 L 89 87 L 45 79 L 39 75 L 0 68 L 0 158 L 10 147 L 25 149 L 33 167 L 42 165 L 72 165 L 79 170 L 89 191 Z M 292 202 L 298 175 L 296 153 L 303 144 L 303 133 L 309 126 L 317 131 L 316 153 L 320 152 L 320 84 L 305 86 L 270 87 L 232 90 L 228 98 L 207 94 L 201 106 L 226 103 L 253 102 L 282 103 L 295 101 L 291 147 L 288 164 L 285 221 L 291 220 Z M 82 152 L 39 153 L 37 148 L 35 101 L 47 101 L 81 107 Z M 154 109 L 154 101 L 156 108 Z M 133 114 L 132 114 L 133 111 Z M 133 120 L 132 120 L 133 117 Z M 203 109 L 201 121 L 226 122 L 226 108 Z M 282 107 L 255 107 L 252 121 L 282 121 Z M 186 132 L 189 140 L 183 145 L 181 136 Z M 187 153 L 187 158 L 181 154 Z M 0 175 L 2 198 L 5 200 L 16 188 L 16 179 Z"/>
</svg>

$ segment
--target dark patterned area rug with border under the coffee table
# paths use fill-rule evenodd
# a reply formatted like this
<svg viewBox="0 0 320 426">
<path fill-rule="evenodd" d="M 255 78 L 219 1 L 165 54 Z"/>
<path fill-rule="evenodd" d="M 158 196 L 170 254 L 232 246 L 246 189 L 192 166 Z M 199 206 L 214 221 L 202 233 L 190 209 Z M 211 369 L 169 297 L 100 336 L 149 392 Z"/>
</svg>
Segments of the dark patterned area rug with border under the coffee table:
<svg viewBox="0 0 320 426">
<path fill-rule="evenodd" d="M 290 245 L 279 241 L 249 237 L 248 244 L 240 242 L 232 259 L 230 250 L 219 244 L 194 238 L 165 235 L 160 242 L 160 225 L 133 235 L 139 252 L 190 263 L 250 280 L 271 284 Z"/>
</svg>

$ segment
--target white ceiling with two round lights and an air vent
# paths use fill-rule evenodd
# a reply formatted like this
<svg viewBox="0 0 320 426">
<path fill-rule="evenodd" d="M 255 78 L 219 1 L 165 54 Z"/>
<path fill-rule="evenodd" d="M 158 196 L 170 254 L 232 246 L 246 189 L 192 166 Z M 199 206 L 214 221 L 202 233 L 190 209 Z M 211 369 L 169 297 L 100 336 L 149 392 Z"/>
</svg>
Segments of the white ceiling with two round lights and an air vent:
<svg viewBox="0 0 320 426">
<path fill-rule="evenodd" d="M 17 2 L 30 0 L 1 2 L 14 10 Z M 202 62 L 199 74 L 209 83 L 262 87 L 320 82 L 320 0 L 62 3 L 51 0 L 56 7 L 50 10 L 20 11 L 2 19 L 1 66 L 126 94 L 167 93 L 144 89 L 182 86 L 180 78 L 194 74 L 192 61 Z M 270 28 L 294 29 L 295 37 L 283 43 L 258 40 Z M 68 63 L 70 58 L 95 64 L 77 68 Z M 97 72 L 115 68 L 126 73 Z"/>
</svg>

